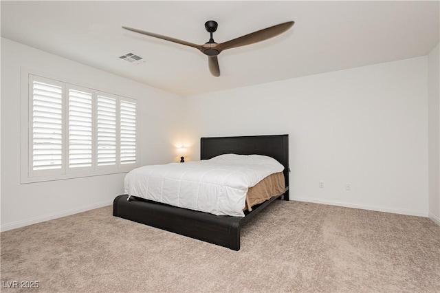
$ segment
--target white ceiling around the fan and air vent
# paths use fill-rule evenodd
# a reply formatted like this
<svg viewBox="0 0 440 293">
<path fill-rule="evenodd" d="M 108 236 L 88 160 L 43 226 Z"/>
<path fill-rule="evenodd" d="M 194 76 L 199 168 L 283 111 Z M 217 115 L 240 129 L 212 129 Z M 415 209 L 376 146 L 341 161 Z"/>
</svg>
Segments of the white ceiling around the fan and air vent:
<svg viewBox="0 0 440 293">
<path fill-rule="evenodd" d="M 1 36 L 182 96 L 424 56 L 439 43 L 439 1 L 1 1 Z M 191 43 L 222 43 L 285 21 L 273 39 L 225 50 L 221 76 Z M 119 56 L 144 58 L 134 65 Z"/>
</svg>

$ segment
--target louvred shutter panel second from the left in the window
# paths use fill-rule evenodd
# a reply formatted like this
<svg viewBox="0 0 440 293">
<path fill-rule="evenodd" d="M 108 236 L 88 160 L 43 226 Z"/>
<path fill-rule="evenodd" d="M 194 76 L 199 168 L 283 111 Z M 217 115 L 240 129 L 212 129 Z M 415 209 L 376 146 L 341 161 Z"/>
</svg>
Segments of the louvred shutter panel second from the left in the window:
<svg viewBox="0 0 440 293">
<path fill-rule="evenodd" d="M 92 166 L 92 95 L 69 89 L 69 168 Z"/>
</svg>

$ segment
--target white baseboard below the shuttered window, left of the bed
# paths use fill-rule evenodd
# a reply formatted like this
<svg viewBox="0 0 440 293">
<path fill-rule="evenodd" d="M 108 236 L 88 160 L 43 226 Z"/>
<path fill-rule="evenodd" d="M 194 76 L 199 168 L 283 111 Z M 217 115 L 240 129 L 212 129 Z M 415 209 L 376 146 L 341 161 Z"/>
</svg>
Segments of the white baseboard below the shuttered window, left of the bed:
<svg viewBox="0 0 440 293">
<path fill-rule="evenodd" d="M 102 208 L 103 206 L 111 206 L 112 204 L 113 204 L 113 200 L 105 201 L 105 202 L 98 202 L 97 204 L 91 204 L 89 206 L 82 206 L 80 208 L 72 208 L 72 210 L 63 210 L 62 212 L 59 212 L 59 213 L 53 213 L 50 215 L 43 215 L 41 217 L 34 217 L 32 219 L 25 219 L 23 221 L 16 221 L 13 223 L 4 224 L 4 225 L 1 225 L 0 229 L 1 229 L 1 232 L 4 232 L 4 231 L 16 229 L 16 228 L 21 228 L 24 226 L 29 226 L 32 224 L 41 223 L 43 221 L 49 221 L 51 219 L 57 219 L 57 218 L 61 218 L 61 217 L 69 216 L 69 215 L 83 213 L 87 210 L 93 210 L 95 208 Z"/>
</svg>

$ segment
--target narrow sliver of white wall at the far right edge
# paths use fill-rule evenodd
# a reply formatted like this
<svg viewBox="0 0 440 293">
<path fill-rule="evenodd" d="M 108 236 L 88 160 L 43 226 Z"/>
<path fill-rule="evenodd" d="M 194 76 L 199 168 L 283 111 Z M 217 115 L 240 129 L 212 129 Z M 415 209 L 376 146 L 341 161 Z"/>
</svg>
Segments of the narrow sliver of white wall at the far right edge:
<svg viewBox="0 0 440 293">
<path fill-rule="evenodd" d="M 429 217 L 440 225 L 440 58 L 439 45 L 428 55 Z"/>
</svg>

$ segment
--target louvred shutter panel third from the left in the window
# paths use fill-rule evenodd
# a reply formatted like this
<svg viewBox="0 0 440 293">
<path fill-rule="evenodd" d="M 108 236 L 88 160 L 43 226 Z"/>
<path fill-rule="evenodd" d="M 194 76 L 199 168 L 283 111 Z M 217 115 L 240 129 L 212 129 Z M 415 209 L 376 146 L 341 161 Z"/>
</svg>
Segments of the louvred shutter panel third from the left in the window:
<svg viewBox="0 0 440 293">
<path fill-rule="evenodd" d="M 116 164 L 116 99 L 99 96 L 97 100 L 97 163 Z"/>
</svg>

